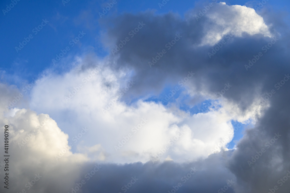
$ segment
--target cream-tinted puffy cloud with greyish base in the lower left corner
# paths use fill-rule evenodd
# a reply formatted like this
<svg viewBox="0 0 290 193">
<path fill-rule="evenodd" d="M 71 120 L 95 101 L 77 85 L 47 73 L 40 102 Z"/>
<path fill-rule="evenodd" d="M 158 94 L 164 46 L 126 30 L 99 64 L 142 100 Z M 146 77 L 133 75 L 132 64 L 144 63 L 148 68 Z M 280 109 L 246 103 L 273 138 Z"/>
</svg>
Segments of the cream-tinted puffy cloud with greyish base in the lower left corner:
<svg viewBox="0 0 290 193">
<path fill-rule="evenodd" d="M 17 109 L 14 116 L 2 115 L 0 122 L 3 128 L 8 125 L 7 155 L 10 157 L 6 172 L 9 174 L 9 191 L 66 191 L 78 179 L 77 166 L 88 158 L 66 149 L 68 135 L 48 115 Z M 3 139 L 1 144 L 4 144 Z M 4 154 L 4 150 L 1 152 Z M 61 158 L 56 159 L 56 156 Z M 3 161 L 3 170 L 4 166 Z M 1 172 L 1 178 L 4 178 L 4 172 Z M 1 191 L 4 191 L 3 186 Z"/>
</svg>

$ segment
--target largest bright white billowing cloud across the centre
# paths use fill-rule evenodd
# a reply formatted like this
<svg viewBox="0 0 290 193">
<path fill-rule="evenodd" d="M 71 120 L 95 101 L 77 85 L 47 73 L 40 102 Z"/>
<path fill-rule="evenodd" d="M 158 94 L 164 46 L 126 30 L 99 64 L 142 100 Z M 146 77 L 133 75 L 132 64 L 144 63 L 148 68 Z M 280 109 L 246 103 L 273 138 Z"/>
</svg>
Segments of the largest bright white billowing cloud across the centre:
<svg viewBox="0 0 290 193">
<path fill-rule="evenodd" d="M 47 75 L 38 81 L 32 91 L 32 109 L 55 117 L 70 138 L 79 133 L 81 127 L 90 129 L 76 144 L 78 152 L 94 160 L 146 162 L 170 144 L 169 141 L 179 132 L 184 132 L 180 140 L 162 154 L 161 160 L 169 155 L 175 161 L 185 161 L 207 157 L 212 153 L 211 149 L 225 137 L 227 139 L 219 149 L 225 148 L 231 141 L 231 117 L 222 110 L 191 116 L 155 102 L 139 100 L 133 105 L 127 105 L 118 98 L 103 113 L 102 109 L 118 96 L 122 90 L 121 85 L 126 85 L 131 77 L 129 70 L 115 72 L 102 63 L 105 62 L 100 62 L 95 70 L 88 68 L 81 71 L 83 63 L 80 62 L 79 67 L 64 75 Z M 94 75 L 89 76 L 92 71 Z M 84 80 L 84 77 L 89 79 Z M 73 94 L 79 84 L 81 88 L 75 89 L 78 91 L 66 102 L 64 96 L 68 97 L 69 92 Z M 133 129 L 138 124 L 141 126 L 144 118 L 148 120 L 146 124 L 138 131 Z M 119 142 L 128 139 L 129 134 L 132 137 L 125 144 L 120 144 L 120 149 L 116 148 Z M 95 151 L 95 154 L 85 150 L 97 144 L 102 150 Z"/>
</svg>

